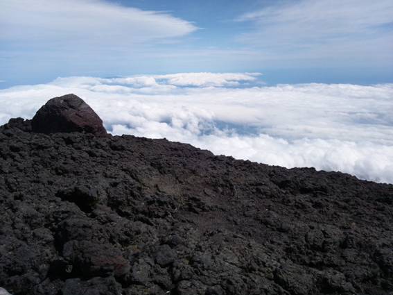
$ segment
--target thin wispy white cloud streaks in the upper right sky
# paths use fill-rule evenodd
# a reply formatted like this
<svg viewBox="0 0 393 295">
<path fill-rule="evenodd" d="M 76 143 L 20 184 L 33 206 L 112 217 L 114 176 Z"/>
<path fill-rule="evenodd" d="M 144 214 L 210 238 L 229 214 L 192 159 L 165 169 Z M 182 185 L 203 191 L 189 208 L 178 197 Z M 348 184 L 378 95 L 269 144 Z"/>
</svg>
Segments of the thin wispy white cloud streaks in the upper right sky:
<svg viewBox="0 0 393 295">
<path fill-rule="evenodd" d="M 240 39 L 272 58 L 329 58 L 329 65 L 393 61 L 391 0 L 277 1 L 236 20 L 254 24 Z"/>
</svg>

